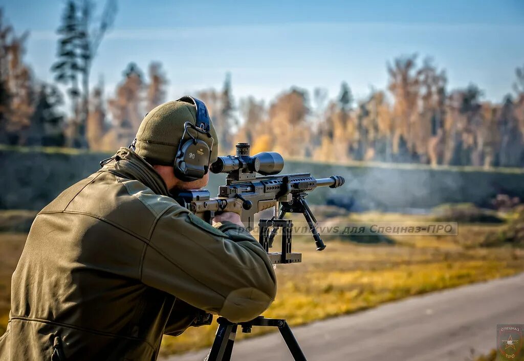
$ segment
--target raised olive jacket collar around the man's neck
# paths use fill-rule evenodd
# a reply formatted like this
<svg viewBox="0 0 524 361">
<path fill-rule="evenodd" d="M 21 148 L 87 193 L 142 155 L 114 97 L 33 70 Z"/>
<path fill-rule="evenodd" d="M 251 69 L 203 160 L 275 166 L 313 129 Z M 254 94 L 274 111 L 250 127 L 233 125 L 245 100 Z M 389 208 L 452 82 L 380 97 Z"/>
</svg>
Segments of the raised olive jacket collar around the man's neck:
<svg viewBox="0 0 524 361">
<path fill-rule="evenodd" d="M 120 148 L 106 163 L 102 162 L 100 172 L 110 172 L 119 177 L 135 179 L 156 194 L 169 195 L 166 182 L 155 168 L 129 148 Z"/>
</svg>

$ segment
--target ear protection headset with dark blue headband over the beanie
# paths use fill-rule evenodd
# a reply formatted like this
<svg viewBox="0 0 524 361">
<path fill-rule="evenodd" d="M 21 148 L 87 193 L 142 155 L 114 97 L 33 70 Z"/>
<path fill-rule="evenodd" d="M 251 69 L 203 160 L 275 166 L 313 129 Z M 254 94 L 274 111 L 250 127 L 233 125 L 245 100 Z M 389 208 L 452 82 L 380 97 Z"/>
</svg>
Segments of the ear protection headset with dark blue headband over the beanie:
<svg viewBox="0 0 524 361">
<path fill-rule="evenodd" d="M 196 124 L 191 122 L 184 123 L 184 133 L 182 139 L 180 139 L 177 155 L 173 163 L 174 175 L 182 181 L 191 182 L 203 178 L 209 171 L 211 149 L 213 149 L 214 143 L 210 133 L 211 121 L 208 108 L 205 107 L 202 101 L 191 96 L 182 96 L 177 101 L 194 104 L 196 107 Z M 211 138 L 211 148 L 205 141 L 196 139 L 188 129 L 193 129 L 197 133 L 205 134 Z M 189 136 L 189 139 L 184 140 L 186 136 Z"/>
</svg>

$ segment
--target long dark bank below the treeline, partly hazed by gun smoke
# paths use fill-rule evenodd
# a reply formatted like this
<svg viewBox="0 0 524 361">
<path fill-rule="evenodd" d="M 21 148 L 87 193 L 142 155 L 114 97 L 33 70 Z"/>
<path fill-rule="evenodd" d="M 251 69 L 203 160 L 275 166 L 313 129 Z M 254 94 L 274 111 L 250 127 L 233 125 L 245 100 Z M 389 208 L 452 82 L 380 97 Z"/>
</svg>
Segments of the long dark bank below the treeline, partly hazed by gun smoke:
<svg viewBox="0 0 524 361">
<path fill-rule="evenodd" d="M 63 189 L 100 168 L 108 154 L 71 150 L 0 149 L 0 209 L 39 210 Z M 354 211 L 428 209 L 441 203 L 488 206 L 497 194 L 524 199 L 524 172 L 475 168 L 432 169 L 418 165 L 331 165 L 288 161 L 282 173 L 310 172 L 318 178 L 339 174 L 346 184 L 317 189 L 312 204 L 337 204 Z M 208 189 L 224 184 L 212 174 Z"/>
</svg>

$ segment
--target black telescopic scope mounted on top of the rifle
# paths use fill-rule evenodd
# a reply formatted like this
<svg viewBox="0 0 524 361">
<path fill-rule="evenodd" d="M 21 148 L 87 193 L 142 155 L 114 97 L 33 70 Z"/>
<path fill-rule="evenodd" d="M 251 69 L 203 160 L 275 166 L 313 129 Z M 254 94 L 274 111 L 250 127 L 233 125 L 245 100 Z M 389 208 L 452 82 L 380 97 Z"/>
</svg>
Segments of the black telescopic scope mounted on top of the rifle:
<svg viewBox="0 0 524 361">
<path fill-rule="evenodd" d="M 235 156 L 218 157 L 212 163 L 213 173 L 230 173 L 235 170 L 258 172 L 263 176 L 278 174 L 284 168 L 284 159 L 274 151 L 263 151 L 249 156 L 249 144 L 238 143 Z"/>
</svg>

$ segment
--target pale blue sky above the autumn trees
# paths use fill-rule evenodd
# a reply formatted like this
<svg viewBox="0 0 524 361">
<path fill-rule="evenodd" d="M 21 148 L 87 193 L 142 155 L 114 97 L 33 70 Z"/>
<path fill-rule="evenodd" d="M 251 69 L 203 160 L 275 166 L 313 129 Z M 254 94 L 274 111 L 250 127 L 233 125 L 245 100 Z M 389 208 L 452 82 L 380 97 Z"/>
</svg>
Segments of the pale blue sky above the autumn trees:
<svg viewBox="0 0 524 361">
<path fill-rule="evenodd" d="M 101 9 L 103 1 L 96 2 Z M 29 30 L 26 60 L 52 80 L 61 0 L 3 1 L 18 32 Z M 449 87 L 477 83 L 485 98 L 511 91 L 524 64 L 524 1 L 137 1 L 119 0 L 112 31 L 93 64 L 106 95 L 133 61 L 160 61 L 169 97 L 222 86 L 232 73 L 236 99 L 271 100 L 292 85 L 357 99 L 387 84 L 386 63 L 402 54 L 431 56 Z"/>
</svg>

